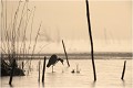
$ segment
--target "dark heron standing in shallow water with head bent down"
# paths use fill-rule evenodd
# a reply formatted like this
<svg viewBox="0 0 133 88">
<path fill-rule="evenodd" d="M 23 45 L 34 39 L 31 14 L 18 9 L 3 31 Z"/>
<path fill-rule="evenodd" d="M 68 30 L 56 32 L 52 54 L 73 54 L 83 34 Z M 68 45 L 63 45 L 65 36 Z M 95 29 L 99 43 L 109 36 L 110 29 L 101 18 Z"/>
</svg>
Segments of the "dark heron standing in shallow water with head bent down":
<svg viewBox="0 0 133 88">
<path fill-rule="evenodd" d="M 52 73 L 53 73 L 53 66 L 54 66 L 59 61 L 60 61 L 60 62 L 62 63 L 62 65 L 63 65 L 63 59 L 62 59 L 62 58 L 58 58 L 58 56 L 57 56 L 55 54 L 53 54 L 53 55 L 50 57 L 50 59 L 49 59 L 49 62 L 48 62 L 48 64 L 47 64 L 47 67 L 52 66 Z"/>
</svg>

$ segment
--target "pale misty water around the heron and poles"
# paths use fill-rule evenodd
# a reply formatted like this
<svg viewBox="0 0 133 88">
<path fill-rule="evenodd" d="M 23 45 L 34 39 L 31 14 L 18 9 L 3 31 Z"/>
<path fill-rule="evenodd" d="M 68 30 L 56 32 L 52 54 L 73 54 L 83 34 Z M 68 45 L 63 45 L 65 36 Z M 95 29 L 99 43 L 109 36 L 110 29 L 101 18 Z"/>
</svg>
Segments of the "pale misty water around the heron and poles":
<svg viewBox="0 0 133 88">
<path fill-rule="evenodd" d="M 79 56 L 78 56 L 79 57 Z M 41 82 L 42 77 L 42 65 L 43 59 L 41 59 L 41 74 L 40 82 L 39 79 L 39 59 L 33 59 L 31 62 L 32 69 L 28 74 L 28 67 L 25 66 L 25 76 L 13 77 L 12 87 L 14 88 L 132 88 L 133 87 L 133 67 L 132 59 L 126 59 L 126 69 L 124 75 L 124 80 L 121 80 L 123 65 L 125 59 L 111 57 L 95 59 L 96 67 L 96 81 L 93 81 L 93 69 L 92 61 L 88 59 L 86 56 L 81 56 L 81 59 L 70 59 L 70 67 L 66 65 L 64 59 L 64 65 L 58 63 L 54 66 L 54 73 L 52 73 L 52 67 L 45 68 L 44 82 Z M 47 59 L 48 63 L 48 59 Z M 71 73 L 72 69 L 80 73 Z M 1 77 L 1 87 L 10 88 L 8 85 L 9 77 Z"/>
</svg>

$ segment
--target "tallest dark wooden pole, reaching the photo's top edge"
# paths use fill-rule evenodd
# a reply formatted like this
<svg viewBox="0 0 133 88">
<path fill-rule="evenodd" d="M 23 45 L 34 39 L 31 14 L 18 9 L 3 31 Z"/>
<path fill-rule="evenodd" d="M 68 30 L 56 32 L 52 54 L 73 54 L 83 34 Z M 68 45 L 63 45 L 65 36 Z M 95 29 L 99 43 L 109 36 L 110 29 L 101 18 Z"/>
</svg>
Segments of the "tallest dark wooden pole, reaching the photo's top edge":
<svg viewBox="0 0 133 88">
<path fill-rule="evenodd" d="M 86 0 L 86 16 L 88 16 L 88 24 L 89 24 L 90 42 L 91 42 L 91 56 L 92 56 L 93 74 L 94 74 L 94 80 L 96 80 L 96 73 L 95 73 L 95 66 L 94 66 L 94 56 L 93 56 L 93 40 L 92 40 L 92 33 L 91 33 L 91 22 L 90 22 L 90 13 L 89 13 L 88 0 Z"/>
</svg>

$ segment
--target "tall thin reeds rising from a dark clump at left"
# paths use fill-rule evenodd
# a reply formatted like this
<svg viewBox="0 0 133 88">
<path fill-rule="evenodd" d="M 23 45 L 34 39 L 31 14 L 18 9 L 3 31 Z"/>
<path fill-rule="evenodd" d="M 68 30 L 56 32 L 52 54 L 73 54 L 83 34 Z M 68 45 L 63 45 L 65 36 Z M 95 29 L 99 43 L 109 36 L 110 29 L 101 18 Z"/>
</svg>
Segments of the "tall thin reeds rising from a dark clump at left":
<svg viewBox="0 0 133 88">
<path fill-rule="evenodd" d="M 14 11 L 8 13 L 10 2 L 18 3 L 18 6 L 16 9 L 13 8 Z M 10 76 L 10 68 L 13 64 L 13 76 L 24 76 L 24 66 L 31 67 L 41 23 L 34 42 L 32 42 L 35 7 L 29 9 L 28 0 L 10 2 L 1 0 L 1 76 Z M 29 58 L 27 54 L 31 54 L 31 56 L 25 61 Z M 13 63 L 13 61 L 16 62 Z"/>
</svg>

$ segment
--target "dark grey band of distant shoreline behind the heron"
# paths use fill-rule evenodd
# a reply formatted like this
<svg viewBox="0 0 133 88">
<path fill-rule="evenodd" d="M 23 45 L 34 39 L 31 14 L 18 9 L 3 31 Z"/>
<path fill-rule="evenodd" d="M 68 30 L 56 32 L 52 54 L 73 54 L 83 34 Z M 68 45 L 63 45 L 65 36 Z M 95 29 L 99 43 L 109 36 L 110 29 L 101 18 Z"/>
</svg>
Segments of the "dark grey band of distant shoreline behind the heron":
<svg viewBox="0 0 133 88">
<path fill-rule="evenodd" d="M 7 56 L 7 54 L 3 54 Z M 32 54 L 19 54 L 21 56 L 20 59 L 31 59 Z M 33 54 L 32 59 L 43 59 L 44 56 L 50 57 L 52 54 Z M 61 58 L 65 59 L 65 55 L 61 53 L 57 53 L 57 55 Z M 112 53 L 112 52 L 100 52 L 100 53 L 94 53 L 94 58 L 95 59 L 132 59 L 133 53 Z M 90 53 L 69 53 L 68 54 L 69 59 L 91 59 L 91 54 Z"/>
</svg>

